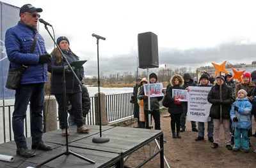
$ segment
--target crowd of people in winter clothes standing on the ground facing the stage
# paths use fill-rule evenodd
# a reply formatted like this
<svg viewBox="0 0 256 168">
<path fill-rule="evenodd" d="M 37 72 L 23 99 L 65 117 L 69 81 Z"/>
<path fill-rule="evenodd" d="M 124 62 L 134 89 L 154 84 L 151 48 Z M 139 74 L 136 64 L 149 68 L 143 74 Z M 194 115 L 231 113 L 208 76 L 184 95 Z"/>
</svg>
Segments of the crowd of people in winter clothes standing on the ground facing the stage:
<svg viewBox="0 0 256 168">
<path fill-rule="evenodd" d="M 155 73 L 150 74 L 149 77 L 150 83 L 156 83 L 157 76 Z M 256 129 L 254 134 L 252 132 L 252 116 L 256 121 L 256 71 L 253 71 L 252 74 L 244 73 L 242 76 L 243 82 L 236 82 L 230 78 L 232 78 L 232 74 L 212 78 L 212 75 L 204 72 L 197 83 L 193 81 L 188 73 L 184 74 L 183 77 L 179 74 L 172 76 L 170 83 L 166 87 L 166 99 L 170 102 L 168 112 L 171 117 L 170 126 L 173 138 L 181 138 L 180 132 L 186 131 L 188 102 L 180 102 L 179 99 L 174 99 L 172 90 L 188 90 L 189 92 L 189 87 L 211 87 L 207 97 L 207 101 L 211 103 L 209 111 L 211 120 L 207 122 L 207 136 L 212 143 L 211 147 L 218 148 L 220 126 L 222 124 L 226 148 L 233 151 L 243 149 L 245 153 L 249 152 L 249 148 L 252 145 L 250 137 L 256 137 Z M 143 84 L 148 81 L 147 78 L 142 80 L 137 78 L 136 81 L 131 101 L 134 103 L 134 118 L 138 118 L 138 128 L 151 129 L 151 127 L 148 127 L 147 117 L 149 113 L 148 97 L 143 89 Z M 162 99 L 163 97 L 150 97 L 150 113 L 154 118 L 155 129 L 158 130 L 161 129 L 159 101 Z M 191 121 L 191 130 L 198 132 L 198 137 L 196 137 L 195 141 L 204 140 L 204 122 L 198 122 L 196 127 L 196 122 Z"/>
</svg>

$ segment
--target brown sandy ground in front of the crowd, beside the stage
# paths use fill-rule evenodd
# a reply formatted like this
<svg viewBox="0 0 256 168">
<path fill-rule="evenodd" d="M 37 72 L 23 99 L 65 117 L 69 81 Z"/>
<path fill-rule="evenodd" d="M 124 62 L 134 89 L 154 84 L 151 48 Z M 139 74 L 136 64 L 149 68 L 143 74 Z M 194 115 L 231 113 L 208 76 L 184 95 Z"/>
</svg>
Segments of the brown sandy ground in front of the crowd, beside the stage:
<svg viewBox="0 0 256 168">
<path fill-rule="evenodd" d="M 181 134 L 181 139 L 173 139 L 170 129 L 170 117 L 166 109 L 161 114 L 161 129 L 164 132 L 164 156 L 170 167 L 256 167 L 256 137 L 251 137 L 252 146 L 250 153 L 243 151 L 230 151 L 225 148 L 223 127 L 220 132 L 219 148 L 212 149 L 211 144 L 207 139 L 207 125 L 205 124 L 205 140 L 195 141 L 198 132 L 192 132 L 191 122 L 186 122 L 186 132 Z M 154 125 L 154 123 L 153 123 Z M 134 124 L 134 127 L 136 124 Z M 256 123 L 253 120 L 253 132 L 255 131 Z M 156 144 L 154 141 L 151 144 L 151 153 L 154 152 Z M 136 167 L 145 158 L 149 156 L 149 145 L 144 146 L 140 150 L 134 152 L 128 158 L 126 165 Z M 160 167 L 159 156 L 157 155 L 152 161 L 145 164 L 143 167 Z M 167 167 L 164 165 L 164 167 Z"/>
</svg>

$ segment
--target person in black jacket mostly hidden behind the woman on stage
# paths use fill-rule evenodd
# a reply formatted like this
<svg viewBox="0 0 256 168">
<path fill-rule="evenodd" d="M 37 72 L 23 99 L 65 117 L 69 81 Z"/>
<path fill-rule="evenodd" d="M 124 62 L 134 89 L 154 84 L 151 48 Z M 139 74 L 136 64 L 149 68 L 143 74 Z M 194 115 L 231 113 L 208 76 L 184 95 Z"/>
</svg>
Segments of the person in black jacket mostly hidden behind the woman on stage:
<svg viewBox="0 0 256 168">
<path fill-rule="evenodd" d="M 90 95 L 88 93 L 88 89 L 86 88 L 86 86 L 83 84 L 83 85 L 81 85 L 81 88 L 82 88 L 83 123 L 86 124 L 86 116 L 91 110 L 91 99 L 90 99 Z M 68 102 L 68 105 L 67 105 L 67 112 L 69 113 L 68 125 L 69 126 L 76 125 L 75 118 L 73 115 L 73 109 L 72 109 L 70 102 Z M 65 136 L 65 134 L 63 134 L 63 136 Z"/>
</svg>

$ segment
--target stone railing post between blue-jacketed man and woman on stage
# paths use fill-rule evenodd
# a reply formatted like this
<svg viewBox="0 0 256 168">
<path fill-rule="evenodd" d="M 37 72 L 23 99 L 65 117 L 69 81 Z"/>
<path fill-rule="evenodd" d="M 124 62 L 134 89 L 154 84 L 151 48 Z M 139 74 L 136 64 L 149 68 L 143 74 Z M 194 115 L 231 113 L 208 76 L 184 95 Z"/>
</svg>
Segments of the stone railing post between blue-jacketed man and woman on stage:
<svg viewBox="0 0 256 168">
<path fill-rule="evenodd" d="M 48 108 L 48 109 L 47 109 Z M 45 96 L 44 104 L 44 132 L 58 129 L 57 123 L 57 102 L 54 96 Z"/>
</svg>

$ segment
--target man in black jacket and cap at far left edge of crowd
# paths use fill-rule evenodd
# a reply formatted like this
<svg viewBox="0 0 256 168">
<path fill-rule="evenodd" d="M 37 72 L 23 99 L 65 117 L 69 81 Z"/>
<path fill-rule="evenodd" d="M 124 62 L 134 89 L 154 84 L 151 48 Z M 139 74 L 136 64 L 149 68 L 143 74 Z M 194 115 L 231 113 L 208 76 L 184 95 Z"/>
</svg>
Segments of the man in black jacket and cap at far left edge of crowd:
<svg viewBox="0 0 256 168">
<path fill-rule="evenodd" d="M 140 87 L 141 78 L 136 78 L 136 85 L 133 87 L 131 103 L 134 104 L 133 117 L 138 119 L 138 125 L 135 128 L 140 127 L 140 106 L 137 101 L 138 88 Z"/>
</svg>

